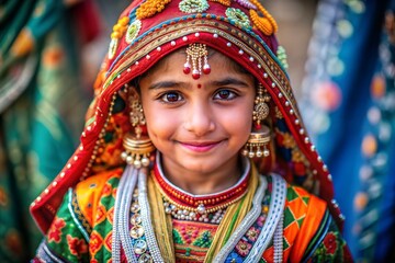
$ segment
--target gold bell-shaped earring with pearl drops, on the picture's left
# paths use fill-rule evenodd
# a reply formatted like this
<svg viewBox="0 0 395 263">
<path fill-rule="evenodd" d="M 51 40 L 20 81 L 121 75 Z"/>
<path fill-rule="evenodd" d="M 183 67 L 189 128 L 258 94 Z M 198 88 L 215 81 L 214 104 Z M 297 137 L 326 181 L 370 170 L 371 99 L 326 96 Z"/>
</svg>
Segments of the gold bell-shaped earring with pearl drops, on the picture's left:
<svg viewBox="0 0 395 263">
<path fill-rule="evenodd" d="M 134 88 L 128 89 L 128 93 L 131 124 L 135 129 L 135 135 L 125 135 L 123 139 L 125 151 L 122 152 L 121 158 L 126 161 L 127 164 L 139 169 L 149 165 L 149 156 L 150 152 L 155 150 L 155 147 L 150 138 L 143 134 L 142 127 L 146 124 L 146 119 L 139 96 Z"/>
</svg>

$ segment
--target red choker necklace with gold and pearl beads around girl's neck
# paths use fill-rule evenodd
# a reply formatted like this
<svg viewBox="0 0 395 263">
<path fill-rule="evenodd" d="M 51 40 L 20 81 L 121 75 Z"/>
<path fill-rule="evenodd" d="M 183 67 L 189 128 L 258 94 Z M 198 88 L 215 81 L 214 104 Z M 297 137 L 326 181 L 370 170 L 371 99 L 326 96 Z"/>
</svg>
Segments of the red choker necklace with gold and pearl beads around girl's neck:
<svg viewBox="0 0 395 263">
<path fill-rule="evenodd" d="M 160 167 L 160 156 L 153 171 L 154 182 L 163 198 L 165 211 L 173 218 L 219 224 L 226 208 L 247 193 L 250 178 L 250 163 L 244 160 L 245 171 L 240 180 L 232 187 L 208 195 L 192 195 L 170 183 Z"/>
</svg>

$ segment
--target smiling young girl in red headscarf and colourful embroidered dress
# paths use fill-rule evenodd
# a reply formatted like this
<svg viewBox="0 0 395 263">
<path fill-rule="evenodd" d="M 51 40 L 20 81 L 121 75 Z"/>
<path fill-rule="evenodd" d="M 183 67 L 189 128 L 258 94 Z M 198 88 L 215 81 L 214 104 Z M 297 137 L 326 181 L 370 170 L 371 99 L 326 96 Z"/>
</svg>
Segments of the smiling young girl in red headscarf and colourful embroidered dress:
<svg viewBox="0 0 395 263">
<path fill-rule="evenodd" d="M 256 0 L 133 2 L 35 261 L 351 261 L 275 31 Z"/>
</svg>

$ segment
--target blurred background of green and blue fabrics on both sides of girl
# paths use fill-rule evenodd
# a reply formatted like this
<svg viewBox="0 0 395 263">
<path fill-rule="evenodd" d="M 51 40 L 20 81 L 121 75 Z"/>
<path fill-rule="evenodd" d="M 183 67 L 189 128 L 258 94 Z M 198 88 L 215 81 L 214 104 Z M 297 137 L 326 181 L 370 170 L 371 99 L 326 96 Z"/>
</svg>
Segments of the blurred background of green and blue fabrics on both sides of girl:
<svg viewBox="0 0 395 263">
<path fill-rule="evenodd" d="M 0 262 L 41 240 L 29 204 L 78 145 L 126 0 L 0 1 Z M 395 262 L 393 0 L 261 1 L 357 262 Z M 72 103 L 70 103 L 72 102 Z"/>
</svg>

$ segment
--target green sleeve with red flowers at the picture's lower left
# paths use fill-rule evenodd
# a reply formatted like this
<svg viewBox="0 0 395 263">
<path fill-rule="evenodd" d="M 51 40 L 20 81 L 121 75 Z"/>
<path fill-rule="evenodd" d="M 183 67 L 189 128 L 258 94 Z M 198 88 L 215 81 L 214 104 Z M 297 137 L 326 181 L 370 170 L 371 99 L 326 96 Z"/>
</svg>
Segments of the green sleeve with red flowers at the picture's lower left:
<svg viewBox="0 0 395 263">
<path fill-rule="evenodd" d="M 89 233 L 75 204 L 75 192 L 69 188 L 32 262 L 89 262 Z"/>
</svg>

